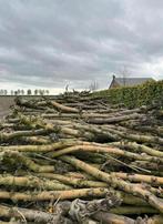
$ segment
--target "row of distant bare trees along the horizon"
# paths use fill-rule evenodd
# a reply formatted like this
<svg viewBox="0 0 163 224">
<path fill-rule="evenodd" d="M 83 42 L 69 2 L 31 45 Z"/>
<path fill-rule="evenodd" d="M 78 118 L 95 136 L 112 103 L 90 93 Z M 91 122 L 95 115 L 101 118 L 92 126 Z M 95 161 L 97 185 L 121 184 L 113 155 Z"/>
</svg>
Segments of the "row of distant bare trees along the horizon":
<svg viewBox="0 0 163 224">
<path fill-rule="evenodd" d="M 0 90 L 0 95 L 49 95 L 49 90 L 11 90 L 10 92 L 8 90 Z"/>
</svg>

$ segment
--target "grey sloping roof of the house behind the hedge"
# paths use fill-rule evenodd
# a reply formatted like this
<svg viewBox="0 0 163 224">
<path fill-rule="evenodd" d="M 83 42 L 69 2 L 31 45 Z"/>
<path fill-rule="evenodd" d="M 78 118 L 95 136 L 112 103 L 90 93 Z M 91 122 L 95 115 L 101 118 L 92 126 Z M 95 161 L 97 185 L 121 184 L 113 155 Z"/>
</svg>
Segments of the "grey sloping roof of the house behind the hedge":
<svg viewBox="0 0 163 224">
<path fill-rule="evenodd" d="M 152 78 L 115 78 L 114 81 L 120 85 L 137 85 L 146 81 L 154 81 Z"/>
</svg>

